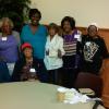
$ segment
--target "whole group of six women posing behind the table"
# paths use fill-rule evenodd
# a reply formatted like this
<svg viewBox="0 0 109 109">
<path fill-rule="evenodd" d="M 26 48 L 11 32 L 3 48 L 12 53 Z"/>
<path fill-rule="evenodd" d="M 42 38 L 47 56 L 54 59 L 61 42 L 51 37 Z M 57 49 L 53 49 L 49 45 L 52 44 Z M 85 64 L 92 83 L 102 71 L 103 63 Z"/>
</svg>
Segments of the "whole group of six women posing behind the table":
<svg viewBox="0 0 109 109">
<path fill-rule="evenodd" d="M 41 25 L 38 9 L 31 9 L 28 16 L 31 23 L 23 26 L 21 35 L 13 31 L 9 17 L 0 22 L 1 82 L 38 80 L 73 87 L 78 72 L 99 75 L 109 52 L 95 24 L 83 35 L 74 17 L 64 16 L 59 27 Z"/>
</svg>

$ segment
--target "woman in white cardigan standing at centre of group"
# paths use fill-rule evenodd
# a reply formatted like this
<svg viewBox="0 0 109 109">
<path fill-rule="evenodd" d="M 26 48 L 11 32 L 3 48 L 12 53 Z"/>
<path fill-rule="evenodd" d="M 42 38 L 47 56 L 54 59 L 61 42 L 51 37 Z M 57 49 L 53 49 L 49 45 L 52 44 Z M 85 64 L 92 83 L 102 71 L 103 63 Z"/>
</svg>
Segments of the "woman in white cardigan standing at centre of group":
<svg viewBox="0 0 109 109">
<path fill-rule="evenodd" d="M 60 71 L 63 65 L 62 56 L 64 55 L 63 38 L 58 35 L 59 28 L 55 23 L 48 27 L 48 37 L 45 51 L 45 65 L 49 74 L 49 83 L 60 84 Z"/>
</svg>

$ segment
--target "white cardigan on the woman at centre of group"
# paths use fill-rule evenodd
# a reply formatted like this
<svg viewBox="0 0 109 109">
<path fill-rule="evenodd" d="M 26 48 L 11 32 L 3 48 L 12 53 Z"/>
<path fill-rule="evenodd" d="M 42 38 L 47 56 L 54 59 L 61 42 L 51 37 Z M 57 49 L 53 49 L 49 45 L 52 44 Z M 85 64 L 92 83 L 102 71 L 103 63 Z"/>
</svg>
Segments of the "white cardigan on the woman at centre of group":
<svg viewBox="0 0 109 109">
<path fill-rule="evenodd" d="M 47 37 L 46 51 L 49 50 L 49 56 L 45 53 L 45 65 L 47 70 L 59 69 L 63 65 L 63 61 L 58 57 L 58 49 L 61 50 L 62 56 L 64 55 L 63 38 L 59 35 L 55 35 L 50 40 L 50 36 Z"/>
</svg>

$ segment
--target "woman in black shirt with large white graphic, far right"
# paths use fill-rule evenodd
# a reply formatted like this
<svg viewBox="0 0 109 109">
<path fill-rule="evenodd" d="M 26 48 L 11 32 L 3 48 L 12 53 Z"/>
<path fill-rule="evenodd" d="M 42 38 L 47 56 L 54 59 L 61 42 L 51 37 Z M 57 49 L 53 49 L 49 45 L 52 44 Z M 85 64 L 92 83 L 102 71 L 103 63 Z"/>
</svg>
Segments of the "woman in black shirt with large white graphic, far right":
<svg viewBox="0 0 109 109">
<path fill-rule="evenodd" d="M 98 75 L 102 60 L 109 58 L 104 39 L 98 35 L 98 27 L 90 24 L 87 35 L 82 37 L 82 71 Z"/>
</svg>

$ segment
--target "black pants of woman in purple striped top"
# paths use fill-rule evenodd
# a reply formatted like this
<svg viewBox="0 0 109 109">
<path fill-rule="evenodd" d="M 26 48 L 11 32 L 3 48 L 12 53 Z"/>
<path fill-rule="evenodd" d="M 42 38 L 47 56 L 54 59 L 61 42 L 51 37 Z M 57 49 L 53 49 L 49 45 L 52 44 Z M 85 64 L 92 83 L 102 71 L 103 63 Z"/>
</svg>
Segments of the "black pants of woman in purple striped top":
<svg viewBox="0 0 109 109">
<path fill-rule="evenodd" d="M 62 85 L 64 87 L 72 88 L 74 87 L 74 83 L 76 76 L 78 74 L 78 66 L 76 63 L 76 56 L 64 56 L 63 59 L 63 69 L 62 69 Z"/>
</svg>

